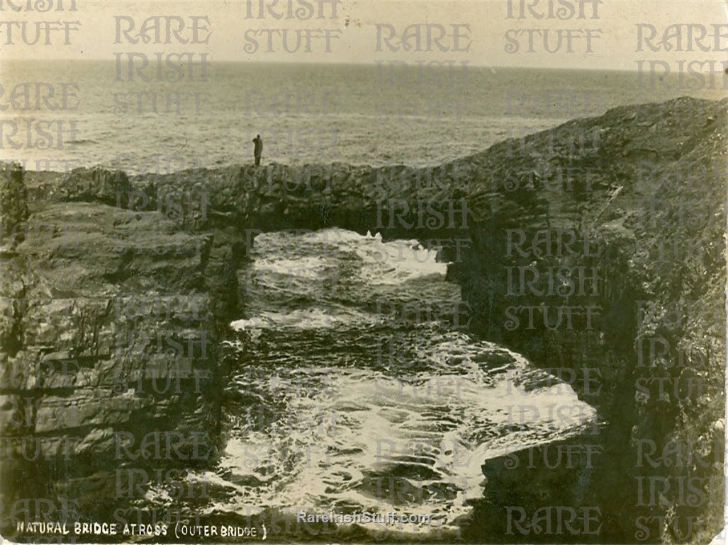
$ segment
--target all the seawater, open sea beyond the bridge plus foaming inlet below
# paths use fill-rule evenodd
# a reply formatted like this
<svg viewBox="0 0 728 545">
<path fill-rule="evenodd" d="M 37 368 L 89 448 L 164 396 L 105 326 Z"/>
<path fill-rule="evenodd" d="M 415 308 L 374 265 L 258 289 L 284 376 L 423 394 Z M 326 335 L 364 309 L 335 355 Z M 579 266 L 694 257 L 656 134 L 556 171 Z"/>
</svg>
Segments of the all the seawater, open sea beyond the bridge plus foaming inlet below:
<svg viewBox="0 0 728 545">
<path fill-rule="evenodd" d="M 140 175 L 250 164 L 256 134 L 264 164 L 427 166 L 619 105 L 724 94 L 600 70 L 210 62 L 181 81 L 131 78 L 113 61 L 1 70 L 4 161 Z M 598 425 L 571 387 L 468 331 L 437 249 L 331 228 L 264 233 L 250 251 L 221 343 L 223 450 L 180 477 L 205 494 L 157 483 L 137 506 L 289 522 L 397 512 L 416 520 L 384 530 L 453 537 L 482 496 L 483 461 Z M 383 530 L 339 526 L 336 538 Z"/>
</svg>

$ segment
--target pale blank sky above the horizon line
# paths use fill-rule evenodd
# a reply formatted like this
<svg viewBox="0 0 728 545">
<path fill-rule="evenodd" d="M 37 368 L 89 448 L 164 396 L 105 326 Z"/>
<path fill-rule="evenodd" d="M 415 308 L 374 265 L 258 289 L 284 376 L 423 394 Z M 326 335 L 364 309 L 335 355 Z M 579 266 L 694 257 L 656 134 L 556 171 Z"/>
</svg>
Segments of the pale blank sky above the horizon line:
<svg viewBox="0 0 728 545">
<path fill-rule="evenodd" d="M 60 0 L 63 11 L 56 10 L 59 0 L 50 1 L 53 9 L 41 13 L 12 10 L 13 5 L 27 7 L 28 0 L 0 0 L 0 62 L 114 60 L 115 54 L 124 61 L 130 54 L 160 54 L 165 62 L 174 62 L 178 55 L 192 53 L 197 59 L 207 55 L 208 62 L 393 61 L 416 65 L 434 60 L 472 66 L 635 70 L 640 60 L 665 61 L 673 69 L 683 60 L 692 62 L 698 71 L 723 70 L 724 62 L 728 66 L 728 52 L 721 51 L 728 49 L 728 36 L 719 38 L 716 47 L 712 26 L 723 25 L 718 27 L 719 34 L 728 35 L 723 0 L 589 0 L 582 4 L 578 0 L 523 0 L 523 17 L 519 17 L 521 0 L 337 0 L 336 4 L 333 0 L 76 0 L 73 11 L 68 9 L 72 0 Z M 261 7 L 263 16 L 258 17 Z M 579 17 L 580 11 L 584 17 Z M 296 13 L 313 17 L 301 20 Z M 162 16 L 162 43 L 154 43 L 157 20 L 148 20 L 157 16 Z M 165 16 L 173 17 L 170 25 Z M 151 43 L 143 43 L 139 33 L 145 20 L 151 25 L 146 33 Z M 48 31 L 50 44 L 42 43 L 45 34 L 38 44 L 23 43 L 21 25 L 26 25 L 28 41 L 34 41 L 37 25 L 45 29 L 42 24 L 46 21 L 60 21 Z M 190 43 L 195 21 L 197 41 L 205 43 Z M 70 25 L 68 44 L 64 43 L 64 22 Z M 181 29 L 180 23 L 184 25 Z M 671 50 L 667 51 L 662 36 L 669 25 L 681 26 L 673 27 L 675 32 L 667 43 Z M 171 43 L 165 43 L 167 30 Z M 643 38 L 654 32 L 652 47 L 660 50 L 652 51 L 644 39 L 638 39 L 640 31 Z"/>
</svg>

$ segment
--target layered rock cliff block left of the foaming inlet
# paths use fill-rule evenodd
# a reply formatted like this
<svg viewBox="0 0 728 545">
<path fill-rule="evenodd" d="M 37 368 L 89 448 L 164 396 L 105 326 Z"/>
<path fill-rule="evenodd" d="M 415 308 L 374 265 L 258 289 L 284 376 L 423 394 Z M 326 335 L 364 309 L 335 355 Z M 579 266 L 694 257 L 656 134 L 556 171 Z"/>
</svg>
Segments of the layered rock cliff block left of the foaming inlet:
<svg viewBox="0 0 728 545">
<path fill-rule="evenodd" d="M 31 201 L 3 233 L 1 470 L 15 519 L 28 498 L 46 514 L 74 498 L 108 517 L 124 464 L 194 448 L 206 463 L 218 442 L 210 235 L 114 206 L 123 174 L 95 171 L 89 185 L 73 202 Z"/>
</svg>

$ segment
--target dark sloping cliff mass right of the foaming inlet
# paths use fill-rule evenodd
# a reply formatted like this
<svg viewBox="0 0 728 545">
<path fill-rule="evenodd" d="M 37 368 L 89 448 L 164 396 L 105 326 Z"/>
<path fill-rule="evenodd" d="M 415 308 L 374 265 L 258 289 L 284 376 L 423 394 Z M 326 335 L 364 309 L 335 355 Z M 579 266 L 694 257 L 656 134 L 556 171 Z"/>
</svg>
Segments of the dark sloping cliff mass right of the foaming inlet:
<svg viewBox="0 0 728 545">
<path fill-rule="evenodd" d="M 563 485 L 510 488 L 505 504 L 526 514 L 510 521 L 486 485 L 475 526 L 501 521 L 503 541 L 628 543 L 722 528 L 726 105 L 617 108 L 486 153 L 503 187 L 459 267 L 464 299 L 483 334 L 572 382 L 604 422 L 582 441 L 599 452 L 589 471 L 542 461 Z M 552 148 L 559 132 L 572 140 Z M 557 531 L 539 511 L 574 498 L 599 507 L 598 533 Z"/>
</svg>

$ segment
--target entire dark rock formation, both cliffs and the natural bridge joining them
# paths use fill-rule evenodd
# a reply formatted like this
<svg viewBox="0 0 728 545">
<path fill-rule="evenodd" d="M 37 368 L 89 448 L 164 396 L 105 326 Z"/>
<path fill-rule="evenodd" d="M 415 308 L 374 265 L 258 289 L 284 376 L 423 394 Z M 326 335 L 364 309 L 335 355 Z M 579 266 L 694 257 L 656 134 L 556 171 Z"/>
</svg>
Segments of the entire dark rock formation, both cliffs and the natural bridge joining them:
<svg viewBox="0 0 728 545">
<path fill-rule="evenodd" d="M 154 430 L 187 453 L 178 464 L 209 463 L 226 374 L 217 343 L 245 297 L 247 248 L 260 232 L 336 225 L 442 248 L 472 332 L 598 408 L 598 433 L 579 439 L 588 461 L 582 448 L 571 467 L 526 471 L 527 453 L 486 463 L 468 539 L 705 542 L 723 509 L 727 105 L 616 108 L 432 169 L 24 182 L 6 169 L 6 497 L 60 490 L 90 506 Z M 39 472 L 53 491 L 31 485 Z M 581 525 L 547 528 L 548 506 Z"/>
</svg>

